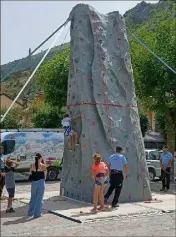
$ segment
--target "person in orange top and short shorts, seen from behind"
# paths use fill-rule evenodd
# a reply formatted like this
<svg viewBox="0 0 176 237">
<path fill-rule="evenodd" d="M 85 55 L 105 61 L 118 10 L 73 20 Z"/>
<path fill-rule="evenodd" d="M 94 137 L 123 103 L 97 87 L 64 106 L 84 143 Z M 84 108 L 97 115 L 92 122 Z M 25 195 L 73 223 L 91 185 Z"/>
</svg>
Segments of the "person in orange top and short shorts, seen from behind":
<svg viewBox="0 0 176 237">
<path fill-rule="evenodd" d="M 92 212 L 104 211 L 104 189 L 108 184 L 109 169 L 104 162 L 101 161 L 101 155 L 95 153 L 94 164 L 92 166 L 92 178 L 95 180 Z M 98 199 L 100 207 L 97 208 Z"/>
</svg>

